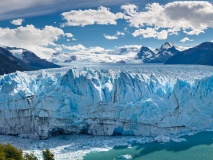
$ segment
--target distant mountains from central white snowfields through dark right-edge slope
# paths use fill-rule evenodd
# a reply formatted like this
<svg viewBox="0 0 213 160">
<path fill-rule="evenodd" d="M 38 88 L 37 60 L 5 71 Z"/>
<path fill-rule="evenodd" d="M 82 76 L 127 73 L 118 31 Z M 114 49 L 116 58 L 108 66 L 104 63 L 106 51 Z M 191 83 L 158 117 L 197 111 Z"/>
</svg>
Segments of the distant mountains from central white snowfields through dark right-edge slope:
<svg viewBox="0 0 213 160">
<path fill-rule="evenodd" d="M 124 46 L 115 50 L 90 53 L 86 51 L 53 54 L 52 62 L 80 63 L 165 63 L 165 64 L 203 64 L 213 65 L 213 42 L 204 42 L 198 46 L 187 48 L 171 42 L 160 48 L 151 49 L 146 46 Z"/>
</svg>

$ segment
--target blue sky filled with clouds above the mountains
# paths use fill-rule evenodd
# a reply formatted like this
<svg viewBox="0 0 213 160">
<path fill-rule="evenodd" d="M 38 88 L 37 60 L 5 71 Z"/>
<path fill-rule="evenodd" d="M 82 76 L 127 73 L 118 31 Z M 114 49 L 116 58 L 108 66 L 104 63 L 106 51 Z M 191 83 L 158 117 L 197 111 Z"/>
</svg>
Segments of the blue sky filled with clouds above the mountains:
<svg viewBox="0 0 213 160">
<path fill-rule="evenodd" d="M 49 54 L 213 41 L 213 0 L 0 0 L 0 45 Z"/>
</svg>

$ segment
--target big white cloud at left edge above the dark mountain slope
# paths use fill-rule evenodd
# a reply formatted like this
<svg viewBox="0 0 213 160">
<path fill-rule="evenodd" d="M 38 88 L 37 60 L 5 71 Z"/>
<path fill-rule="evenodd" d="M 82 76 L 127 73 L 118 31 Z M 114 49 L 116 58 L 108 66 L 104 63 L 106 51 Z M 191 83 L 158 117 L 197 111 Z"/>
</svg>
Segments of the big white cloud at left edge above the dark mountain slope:
<svg viewBox="0 0 213 160">
<path fill-rule="evenodd" d="M 55 41 L 64 36 L 63 30 L 53 26 L 45 26 L 42 29 L 33 25 L 18 27 L 15 29 L 0 28 L 0 44 L 26 48 L 46 58 L 47 54 L 54 52 L 49 46 L 57 46 Z"/>
</svg>

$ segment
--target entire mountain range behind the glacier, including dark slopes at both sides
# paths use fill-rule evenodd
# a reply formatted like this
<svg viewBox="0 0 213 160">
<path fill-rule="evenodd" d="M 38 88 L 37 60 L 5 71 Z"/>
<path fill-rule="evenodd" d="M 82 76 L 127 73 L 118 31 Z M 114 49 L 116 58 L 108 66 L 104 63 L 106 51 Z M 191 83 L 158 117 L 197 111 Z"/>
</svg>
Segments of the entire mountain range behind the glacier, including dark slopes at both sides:
<svg viewBox="0 0 213 160">
<path fill-rule="evenodd" d="M 64 53 L 55 52 L 50 59 L 41 59 L 33 52 L 16 47 L 0 47 L 0 75 L 11 72 L 58 68 L 54 63 L 164 63 L 213 65 L 213 42 L 204 42 L 183 49 L 166 42 L 160 48 L 124 46 L 115 50 L 89 52 L 87 50 Z"/>
</svg>

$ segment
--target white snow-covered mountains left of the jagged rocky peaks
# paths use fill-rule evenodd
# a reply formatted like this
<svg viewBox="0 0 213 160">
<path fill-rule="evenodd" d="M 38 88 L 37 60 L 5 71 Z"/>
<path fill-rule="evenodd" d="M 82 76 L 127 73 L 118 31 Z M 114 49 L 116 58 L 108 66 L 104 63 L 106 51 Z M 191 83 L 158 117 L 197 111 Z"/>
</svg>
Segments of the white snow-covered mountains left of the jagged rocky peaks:
<svg viewBox="0 0 213 160">
<path fill-rule="evenodd" d="M 53 63 L 135 63 L 135 57 L 140 51 L 141 46 L 130 45 L 123 47 L 116 47 L 113 50 L 80 50 L 72 53 L 57 51 L 52 54 L 48 61 Z"/>
</svg>

